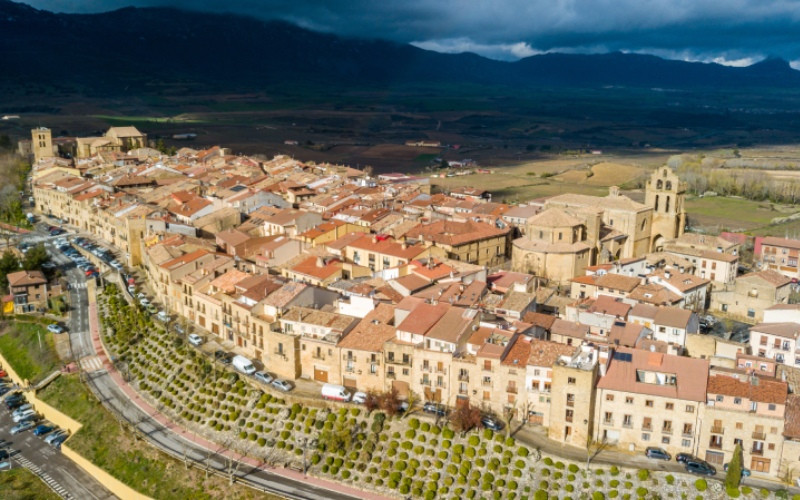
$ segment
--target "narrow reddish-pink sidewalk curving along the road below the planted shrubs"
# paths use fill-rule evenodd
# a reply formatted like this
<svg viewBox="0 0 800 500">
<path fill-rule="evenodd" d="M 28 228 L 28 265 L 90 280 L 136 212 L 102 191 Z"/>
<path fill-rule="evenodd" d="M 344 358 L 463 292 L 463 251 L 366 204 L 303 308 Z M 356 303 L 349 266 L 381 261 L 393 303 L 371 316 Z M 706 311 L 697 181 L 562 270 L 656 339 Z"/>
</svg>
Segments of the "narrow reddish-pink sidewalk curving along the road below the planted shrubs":
<svg viewBox="0 0 800 500">
<path fill-rule="evenodd" d="M 255 469 L 267 470 L 274 474 L 289 479 L 294 479 L 296 481 L 311 484 L 337 493 L 350 495 L 355 498 L 363 498 L 370 500 L 383 500 L 388 498 L 376 493 L 352 488 L 347 485 L 340 484 L 334 481 L 329 481 L 314 476 L 304 475 L 302 472 L 298 472 L 292 469 L 285 469 L 282 467 L 272 467 L 267 464 L 264 464 L 262 461 L 253 458 L 249 457 L 241 458 L 241 455 L 239 453 L 234 453 L 230 450 L 216 451 L 220 448 L 218 444 L 208 441 L 202 437 L 196 436 L 193 433 L 187 432 L 186 429 L 180 427 L 179 425 L 175 424 L 167 417 L 165 417 L 163 414 L 159 413 L 155 408 L 150 406 L 150 404 L 148 404 L 147 401 L 142 399 L 141 396 L 139 396 L 139 393 L 137 393 L 130 385 L 128 385 L 128 383 L 125 382 L 125 380 L 123 380 L 122 376 L 119 374 L 116 368 L 114 368 L 114 365 L 111 363 L 108 353 L 105 350 L 105 346 L 103 345 L 103 342 L 100 339 L 100 325 L 97 313 L 97 299 L 95 295 L 95 287 L 93 285 L 90 285 L 89 289 L 89 329 L 92 334 L 92 344 L 94 346 L 95 352 L 103 362 L 103 367 L 106 369 L 109 376 L 114 380 L 119 389 L 131 400 L 131 402 L 133 402 L 137 407 L 139 407 L 139 409 L 141 409 L 144 413 L 146 413 L 150 418 L 152 418 L 165 428 L 169 429 L 173 433 L 179 435 L 186 441 L 194 443 L 195 445 L 198 445 L 206 450 L 211 450 L 217 455 L 224 455 L 228 458 L 233 458 Z"/>
</svg>

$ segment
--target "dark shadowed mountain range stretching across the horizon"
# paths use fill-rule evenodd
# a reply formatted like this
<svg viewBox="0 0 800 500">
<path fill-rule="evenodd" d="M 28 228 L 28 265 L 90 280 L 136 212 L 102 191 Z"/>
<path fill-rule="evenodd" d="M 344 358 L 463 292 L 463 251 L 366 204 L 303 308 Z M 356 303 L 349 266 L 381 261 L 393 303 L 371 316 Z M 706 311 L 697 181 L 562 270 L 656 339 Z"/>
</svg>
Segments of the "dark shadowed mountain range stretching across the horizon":
<svg viewBox="0 0 800 500">
<path fill-rule="evenodd" d="M 0 83 L 120 85 L 193 82 L 245 89 L 267 83 L 489 84 L 520 87 L 737 88 L 800 86 L 771 58 L 749 67 L 629 53 L 543 54 L 502 62 L 384 40 L 344 38 L 292 24 L 172 8 L 56 14 L 0 0 Z"/>
</svg>

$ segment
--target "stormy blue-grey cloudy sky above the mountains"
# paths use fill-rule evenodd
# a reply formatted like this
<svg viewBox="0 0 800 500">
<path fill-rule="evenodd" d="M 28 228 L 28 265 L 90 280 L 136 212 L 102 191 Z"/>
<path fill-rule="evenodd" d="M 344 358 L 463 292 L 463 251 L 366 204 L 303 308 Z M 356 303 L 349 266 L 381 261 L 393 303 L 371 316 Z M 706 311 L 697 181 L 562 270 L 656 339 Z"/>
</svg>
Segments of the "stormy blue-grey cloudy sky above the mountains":
<svg viewBox="0 0 800 500">
<path fill-rule="evenodd" d="M 172 6 L 513 61 L 546 52 L 654 54 L 800 69 L 800 0 L 25 0 L 55 12 Z"/>
</svg>

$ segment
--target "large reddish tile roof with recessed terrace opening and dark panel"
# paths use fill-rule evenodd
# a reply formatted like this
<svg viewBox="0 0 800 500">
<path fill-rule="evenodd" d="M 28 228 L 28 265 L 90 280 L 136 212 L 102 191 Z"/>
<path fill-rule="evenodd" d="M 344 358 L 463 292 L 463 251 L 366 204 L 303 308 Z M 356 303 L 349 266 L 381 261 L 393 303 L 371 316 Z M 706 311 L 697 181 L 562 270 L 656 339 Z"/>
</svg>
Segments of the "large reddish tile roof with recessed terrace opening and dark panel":
<svg viewBox="0 0 800 500">
<path fill-rule="evenodd" d="M 669 354 L 620 347 L 608 365 L 606 375 L 597 383 L 598 389 L 651 394 L 687 401 L 706 401 L 708 361 Z M 674 375 L 676 382 L 651 384 L 638 382 L 637 372 L 657 372 Z"/>
</svg>

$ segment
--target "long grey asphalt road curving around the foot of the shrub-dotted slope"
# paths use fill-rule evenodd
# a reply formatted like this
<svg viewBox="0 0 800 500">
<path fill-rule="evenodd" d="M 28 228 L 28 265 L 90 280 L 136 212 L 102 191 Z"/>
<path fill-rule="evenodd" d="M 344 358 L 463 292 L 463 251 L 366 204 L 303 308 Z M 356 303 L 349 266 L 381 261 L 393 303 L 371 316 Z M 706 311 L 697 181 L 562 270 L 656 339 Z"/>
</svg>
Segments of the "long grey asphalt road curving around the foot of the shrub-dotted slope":
<svg viewBox="0 0 800 500">
<path fill-rule="evenodd" d="M 66 236 L 66 235 L 64 235 Z M 48 252 L 53 261 L 62 265 L 65 269 L 65 274 L 70 284 L 70 323 L 69 335 L 71 342 L 71 349 L 75 359 L 82 359 L 88 357 L 95 357 L 100 352 L 96 352 L 95 345 L 92 339 L 92 332 L 90 327 L 90 308 L 89 298 L 87 292 L 87 284 L 85 275 L 76 269 L 72 262 L 58 250 L 50 245 L 50 241 L 57 238 L 43 235 L 41 233 L 31 233 L 26 236 L 24 240 L 30 242 L 45 242 L 48 247 Z M 105 369 L 95 370 L 87 373 L 85 376 L 89 388 L 98 397 L 98 399 L 106 406 L 112 413 L 119 418 L 124 419 L 134 428 L 137 429 L 143 436 L 145 436 L 151 444 L 157 446 L 162 451 L 176 456 L 186 456 L 188 459 L 194 461 L 200 467 L 210 467 L 220 473 L 230 471 L 230 458 L 226 457 L 226 450 L 221 447 L 214 447 L 213 443 L 207 443 L 210 446 L 203 446 L 194 442 L 193 439 L 188 439 L 178 434 L 174 429 L 175 426 L 167 426 L 159 419 L 154 418 L 139 405 L 131 400 L 128 394 L 120 387 L 117 380 L 111 376 Z M 205 443 L 203 443 L 205 444 Z M 230 456 L 230 452 L 227 452 Z M 302 478 L 302 474 L 295 471 L 285 471 L 286 475 L 277 472 L 270 472 L 259 466 L 254 466 L 248 461 L 242 461 L 234 473 L 237 481 L 246 482 L 250 486 L 265 492 L 270 492 L 276 495 L 284 496 L 287 498 L 309 499 L 309 500 L 355 500 L 366 497 L 378 498 L 367 492 L 354 492 L 353 495 L 334 491 L 328 489 L 319 483 L 328 483 L 333 488 L 337 488 L 336 483 L 318 480 L 316 478 Z M 289 475 L 300 475 L 300 479 L 287 477 Z M 317 484 L 311 484 L 317 483 Z M 348 489 L 346 486 L 341 485 L 342 488 Z"/>
</svg>

